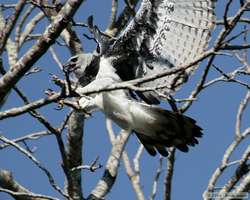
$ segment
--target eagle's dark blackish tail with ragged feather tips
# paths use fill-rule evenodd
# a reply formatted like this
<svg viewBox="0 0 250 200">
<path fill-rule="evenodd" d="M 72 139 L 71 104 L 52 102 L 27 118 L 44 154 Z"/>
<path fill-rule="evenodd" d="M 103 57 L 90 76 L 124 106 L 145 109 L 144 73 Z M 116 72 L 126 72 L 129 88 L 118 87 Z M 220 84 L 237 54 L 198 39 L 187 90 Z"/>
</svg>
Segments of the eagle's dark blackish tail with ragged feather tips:
<svg viewBox="0 0 250 200">
<path fill-rule="evenodd" d="M 166 147 L 176 147 L 180 151 L 187 152 L 188 146 L 198 144 L 197 138 L 202 136 L 201 128 L 196 121 L 185 115 L 164 110 L 157 106 L 140 104 L 141 109 L 155 120 L 151 123 L 151 133 L 143 133 L 134 130 L 140 142 L 150 155 L 156 155 L 156 150 L 163 156 L 167 156 Z M 145 130 L 147 131 L 147 130 Z"/>
</svg>

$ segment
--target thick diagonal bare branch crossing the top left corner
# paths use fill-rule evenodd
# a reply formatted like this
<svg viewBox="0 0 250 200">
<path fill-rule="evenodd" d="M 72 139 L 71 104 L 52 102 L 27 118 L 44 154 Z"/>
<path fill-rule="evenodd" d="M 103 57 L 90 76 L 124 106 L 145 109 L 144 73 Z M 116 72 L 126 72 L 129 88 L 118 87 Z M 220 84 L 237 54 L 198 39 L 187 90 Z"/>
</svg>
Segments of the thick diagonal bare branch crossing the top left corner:
<svg viewBox="0 0 250 200">
<path fill-rule="evenodd" d="M 67 26 L 82 1 L 83 0 L 67 1 L 55 20 L 50 26 L 47 27 L 37 44 L 33 45 L 30 50 L 27 51 L 27 53 L 15 64 L 15 66 L 13 66 L 13 70 L 8 71 L 3 77 L 0 78 L 0 101 L 55 42 L 56 38 Z"/>
</svg>

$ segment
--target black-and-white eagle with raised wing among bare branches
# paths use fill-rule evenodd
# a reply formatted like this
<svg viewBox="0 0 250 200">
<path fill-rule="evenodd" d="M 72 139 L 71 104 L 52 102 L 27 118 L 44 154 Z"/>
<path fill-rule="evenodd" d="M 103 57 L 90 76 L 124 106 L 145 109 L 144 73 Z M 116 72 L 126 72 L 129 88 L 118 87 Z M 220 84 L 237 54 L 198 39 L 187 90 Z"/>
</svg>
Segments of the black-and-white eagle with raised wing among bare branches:
<svg viewBox="0 0 250 200">
<path fill-rule="evenodd" d="M 194 119 L 156 105 L 187 81 L 197 65 L 137 84 L 145 90 L 116 89 L 91 97 L 85 94 L 91 89 L 181 69 L 199 58 L 215 24 L 215 1 L 142 0 L 135 17 L 116 38 L 101 32 L 89 20 L 97 50 L 76 55 L 64 66 L 75 69 L 81 108 L 99 108 L 122 129 L 134 132 L 153 156 L 157 152 L 167 156 L 168 147 L 187 152 L 188 146 L 198 144 L 202 129 Z"/>
</svg>

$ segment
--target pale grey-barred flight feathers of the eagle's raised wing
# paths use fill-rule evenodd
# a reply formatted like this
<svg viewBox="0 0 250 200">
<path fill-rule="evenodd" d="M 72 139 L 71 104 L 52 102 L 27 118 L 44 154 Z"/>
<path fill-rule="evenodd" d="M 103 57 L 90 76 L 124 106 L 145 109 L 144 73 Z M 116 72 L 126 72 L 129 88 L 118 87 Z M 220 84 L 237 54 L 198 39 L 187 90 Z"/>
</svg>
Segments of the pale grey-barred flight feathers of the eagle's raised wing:
<svg viewBox="0 0 250 200">
<path fill-rule="evenodd" d="M 150 51 L 174 66 L 196 59 L 207 48 L 214 27 L 214 5 L 211 0 L 162 1 L 154 10 L 158 20 Z"/>
</svg>

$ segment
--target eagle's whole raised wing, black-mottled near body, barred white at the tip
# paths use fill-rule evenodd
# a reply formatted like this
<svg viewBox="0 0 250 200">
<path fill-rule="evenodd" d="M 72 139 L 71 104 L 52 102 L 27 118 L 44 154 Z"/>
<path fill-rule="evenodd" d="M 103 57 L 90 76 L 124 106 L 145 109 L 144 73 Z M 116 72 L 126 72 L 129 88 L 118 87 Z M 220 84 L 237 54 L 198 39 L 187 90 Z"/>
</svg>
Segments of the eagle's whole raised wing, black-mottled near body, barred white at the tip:
<svg viewBox="0 0 250 200">
<path fill-rule="evenodd" d="M 214 6 L 215 0 L 143 0 L 135 18 L 108 53 L 119 55 L 120 60 L 124 56 L 127 60 L 140 58 L 134 65 L 124 66 L 125 61 L 118 62 L 121 78 L 124 74 L 134 78 L 152 75 L 194 61 L 208 46 L 215 21 Z M 125 69 L 128 67 L 131 69 Z M 166 85 L 163 92 L 170 93 L 195 68 L 189 68 L 181 76 L 163 77 L 143 86 Z M 158 99 L 154 92 L 143 93 L 143 96 L 149 103 Z"/>
</svg>

